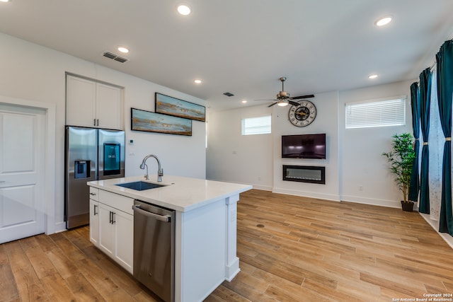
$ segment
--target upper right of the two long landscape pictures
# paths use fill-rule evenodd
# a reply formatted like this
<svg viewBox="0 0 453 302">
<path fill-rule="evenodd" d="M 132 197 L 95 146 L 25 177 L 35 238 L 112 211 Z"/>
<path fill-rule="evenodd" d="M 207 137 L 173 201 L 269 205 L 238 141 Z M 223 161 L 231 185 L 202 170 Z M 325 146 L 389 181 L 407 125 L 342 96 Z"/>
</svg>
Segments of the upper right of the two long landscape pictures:
<svg viewBox="0 0 453 302">
<path fill-rule="evenodd" d="M 173 98 L 162 93 L 155 93 L 155 112 L 164 115 L 173 115 L 185 119 L 206 122 L 205 106 L 190 103 L 186 100 Z"/>
</svg>

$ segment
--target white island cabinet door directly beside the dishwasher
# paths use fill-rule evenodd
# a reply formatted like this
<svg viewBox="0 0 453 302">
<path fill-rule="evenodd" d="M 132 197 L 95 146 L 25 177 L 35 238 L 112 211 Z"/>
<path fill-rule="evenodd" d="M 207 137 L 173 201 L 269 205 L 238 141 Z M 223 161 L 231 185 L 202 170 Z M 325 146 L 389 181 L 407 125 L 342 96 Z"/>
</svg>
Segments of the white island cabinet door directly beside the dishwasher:
<svg viewBox="0 0 453 302">
<path fill-rule="evenodd" d="M 115 261 L 132 274 L 134 256 L 134 216 L 123 211 L 116 211 L 115 226 Z"/>
</svg>

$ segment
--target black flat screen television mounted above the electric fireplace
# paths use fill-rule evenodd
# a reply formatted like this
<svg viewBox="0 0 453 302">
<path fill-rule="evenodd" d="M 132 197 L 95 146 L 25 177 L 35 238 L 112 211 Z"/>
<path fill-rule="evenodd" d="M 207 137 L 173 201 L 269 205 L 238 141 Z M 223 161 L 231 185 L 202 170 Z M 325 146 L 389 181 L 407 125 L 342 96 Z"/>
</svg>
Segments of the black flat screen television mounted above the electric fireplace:
<svg viewBox="0 0 453 302">
<path fill-rule="evenodd" d="M 326 134 L 282 135 L 282 158 L 326 158 Z"/>
</svg>

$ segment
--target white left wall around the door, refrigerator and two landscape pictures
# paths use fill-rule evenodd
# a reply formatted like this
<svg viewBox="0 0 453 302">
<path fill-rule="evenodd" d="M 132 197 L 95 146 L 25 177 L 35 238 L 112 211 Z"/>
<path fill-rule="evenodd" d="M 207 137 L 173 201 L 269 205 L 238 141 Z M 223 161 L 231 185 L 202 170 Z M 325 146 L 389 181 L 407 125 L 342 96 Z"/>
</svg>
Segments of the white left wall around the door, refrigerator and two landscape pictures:
<svg viewBox="0 0 453 302">
<path fill-rule="evenodd" d="M 205 105 L 204 100 L 1 33 L 0 45 L 0 56 L 4 58 L 0 61 L 0 95 L 56 105 L 57 230 L 64 229 L 65 72 L 124 87 L 126 139 L 134 139 L 133 145 L 126 144 L 127 176 L 144 174 L 139 164 L 145 155 L 154 153 L 161 159 L 164 175 L 205 178 L 204 122 L 193 121 L 192 137 L 130 131 L 130 108 L 154 111 L 155 92 L 200 105 Z M 150 174 L 156 170 L 153 163 L 149 164 Z"/>
</svg>

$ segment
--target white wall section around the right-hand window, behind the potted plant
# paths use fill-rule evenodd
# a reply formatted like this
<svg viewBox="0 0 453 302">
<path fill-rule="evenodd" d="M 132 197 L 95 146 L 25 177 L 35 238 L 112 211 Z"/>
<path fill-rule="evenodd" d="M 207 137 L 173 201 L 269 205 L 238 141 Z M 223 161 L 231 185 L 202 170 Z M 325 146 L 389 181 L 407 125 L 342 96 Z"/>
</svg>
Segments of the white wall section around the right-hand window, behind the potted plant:
<svg viewBox="0 0 453 302">
<path fill-rule="evenodd" d="M 340 174 L 342 200 L 401 207 L 402 193 L 395 185 L 382 152 L 391 150 L 392 135 L 403 132 L 412 134 L 411 83 L 413 81 L 403 81 L 340 92 L 338 108 L 343 151 Z M 345 103 L 400 95 L 407 95 L 406 126 L 345 129 Z"/>
</svg>

